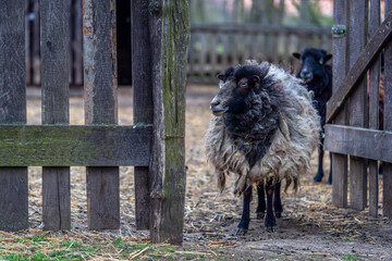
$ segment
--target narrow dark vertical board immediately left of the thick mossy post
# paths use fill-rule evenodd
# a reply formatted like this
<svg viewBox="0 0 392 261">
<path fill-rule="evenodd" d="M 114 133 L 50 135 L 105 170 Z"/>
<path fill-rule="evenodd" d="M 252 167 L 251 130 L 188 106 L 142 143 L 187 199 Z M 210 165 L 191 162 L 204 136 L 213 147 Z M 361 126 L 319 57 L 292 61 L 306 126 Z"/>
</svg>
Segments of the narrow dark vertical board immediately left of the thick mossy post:
<svg viewBox="0 0 392 261">
<path fill-rule="evenodd" d="M 151 83 L 151 45 L 148 28 L 148 2 L 134 0 L 132 12 L 132 87 L 134 124 L 154 121 Z M 150 222 L 148 167 L 135 166 L 135 217 L 137 229 L 148 229 Z"/>
</svg>

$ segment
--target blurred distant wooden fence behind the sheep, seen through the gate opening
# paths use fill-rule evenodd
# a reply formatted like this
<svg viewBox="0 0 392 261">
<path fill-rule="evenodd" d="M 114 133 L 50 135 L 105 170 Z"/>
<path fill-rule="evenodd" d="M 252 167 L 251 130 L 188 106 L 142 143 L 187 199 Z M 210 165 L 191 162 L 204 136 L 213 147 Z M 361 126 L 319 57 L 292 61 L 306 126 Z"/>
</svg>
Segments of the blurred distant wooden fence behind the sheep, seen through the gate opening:
<svg viewBox="0 0 392 261">
<path fill-rule="evenodd" d="M 330 27 L 193 24 L 188 82 L 217 83 L 216 75 L 247 59 L 265 60 L 292 70 L 293 52 L 306 47 L 331 51 Z"/>
</svg>

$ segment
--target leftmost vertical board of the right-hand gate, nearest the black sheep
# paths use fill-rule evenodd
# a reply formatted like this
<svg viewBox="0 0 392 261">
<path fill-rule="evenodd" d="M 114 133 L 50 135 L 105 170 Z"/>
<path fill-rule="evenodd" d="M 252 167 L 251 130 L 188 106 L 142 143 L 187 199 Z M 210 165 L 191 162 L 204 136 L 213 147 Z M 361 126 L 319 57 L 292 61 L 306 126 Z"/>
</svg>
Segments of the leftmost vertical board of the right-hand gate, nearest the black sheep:
<svg viewBox="0 0 392 261">
<path fill-rule="evenodd" d="M 333 24 L 346 24 L 347 3 L 345 0 L 333 1 Z M 336 91 L 346 74 L 346 37 L 333 38 L 333 92 Z M 345 114 L 338 115 L 335 123 L 345 124 Z M 327 134 L 328 135 L 328 134 Z M 332 153 L 332 202 L 339 208 L 347 206 L 347 157 Z"/>
</svg>

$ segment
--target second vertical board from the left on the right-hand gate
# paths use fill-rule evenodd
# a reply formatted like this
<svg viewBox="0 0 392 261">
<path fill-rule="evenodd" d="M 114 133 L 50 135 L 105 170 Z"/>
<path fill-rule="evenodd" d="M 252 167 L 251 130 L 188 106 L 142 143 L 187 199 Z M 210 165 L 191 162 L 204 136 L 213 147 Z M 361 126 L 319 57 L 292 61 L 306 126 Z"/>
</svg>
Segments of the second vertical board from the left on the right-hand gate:
<svg viewBox="0 0 392 261">
<path fill-rule="evenodd" d="M 366 45 L 368 24 L 368 2 L 350 0 L 350 66 L 358 59 Z M 363 78 L 350 97 L 350 125 L 367 127 L 367 90 Z M 360 158 L 350 158 L 350 206 L 355 210 L 364 210 L 367 206 L 367 165 Z"/>
</svg>

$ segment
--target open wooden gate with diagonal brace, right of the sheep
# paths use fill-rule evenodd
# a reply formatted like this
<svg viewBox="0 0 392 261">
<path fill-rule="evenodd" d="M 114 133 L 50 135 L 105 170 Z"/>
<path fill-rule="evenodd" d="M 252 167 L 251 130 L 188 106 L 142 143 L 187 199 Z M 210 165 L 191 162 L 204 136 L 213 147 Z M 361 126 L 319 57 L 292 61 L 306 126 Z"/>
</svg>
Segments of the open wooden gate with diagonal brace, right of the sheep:
<svg viewBox="0 0 392 261">
<path fill-rule="evenodd" d="M 324 146 L 333 152 L 333 203 L 355 210 L 369 206 L 377 216 L 382 162 L 383 215 L 392 217 L 392 2 L 384 3 L 381 25 L 380 9 L 380 0 L 334 0 L 333 96 L 327 105 Z"/>
</svg>

